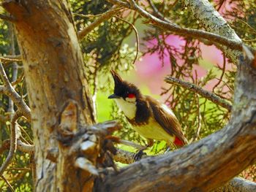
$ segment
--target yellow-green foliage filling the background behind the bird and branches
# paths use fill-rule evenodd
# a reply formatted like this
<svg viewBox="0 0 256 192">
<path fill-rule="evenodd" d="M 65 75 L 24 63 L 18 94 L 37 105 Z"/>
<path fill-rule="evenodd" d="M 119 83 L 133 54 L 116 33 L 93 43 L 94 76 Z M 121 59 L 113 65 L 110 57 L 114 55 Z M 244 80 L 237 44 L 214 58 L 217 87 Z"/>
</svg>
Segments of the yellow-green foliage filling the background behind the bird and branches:
<svg viewBox="0 0 256 192">
<path fill-rule="evenodd" d="M 175 21 L 179 26 L 202 29 L 202 25 L 195 18 L 191 17 L 191 13 L 184 7 L 182 1 L 153 2 L 165 18 Z M 217 9 L 224 7 L 225 3 L 228 4 L 229 2 L 222 0 L 213 1 Z M 69 3 L 71 4 L 77 31 L 89 26 L 94 20 L 112 7 L 105 0 L 69 0 Z M 147 9 L 148 12 L 153 12 L 153 9 L 143 4 L 142 1 L 138 1 L 138 3 L 141 7 Z M 244 42 L 255 47 L 255 1 L 236 0 L 232 1 L 232 4 L 236 4 L 236 6 L 231 11 L 225 12 L 225 18 L 229 20 L 231 26 L 236 30 L 238 36 L 244 39 Z M 184 39 L 184 45 L 177 49 L 176 45 L 168 41 L 168 37 L 170 36 L 168 31 L 162 31 L 154 26 L 148 27 L 147 21 L 137 13 L 124 11 L 123 9 L 118 13 L 118 16 L 134 24 L 138 28 L 138 31 L 140 31 L 140 45 L 144 45 L 140 49 L 143 50 L 142 55 L 157 54 L 160 61 L 162 61 L 162 65 L 167 64 L 164 61 L 165 58 L 168 58 L 170 75 L 181 80 L 193 82 L 202 88 L 208 88 L 209 85 L 214 84 L 210 86 L 211 88 L 208 88 L 211 89 L 210 91 L 213 91 L 223 99 L 227 99 L 227 101 L 232 101 L 236 66 L 226 69 L 224 66 L 230 64 L 225 58 L 225 55 L 223 55 L 223 64 L 220 66 L 206 64 L 206 61 L 203 61 L 200 43 L 197 40 L 186 38 Z M 143 29 L 145 30 L 143 31 Z M 118 110 L 112 101 L 107 99 L 108 94 L 113 91 L 113 81 L 112 77 L 110 77 L 109 69 L 115 69 L 121 74 L 127 74 L 127 72 L 134 68 L 132 64 L 136 55 L 136 47 L 131 46 L 129 43 L 129 39 L 134 36 L 132 31 L 131 24 L 113 17 L 105 20 L 87 34 L 81 40 L 80 46 L 83 51 L 86 78 L 89 81 L 92 95 L 94 98 L 97 98 L 97 120 L 99 122 L 109 119 L 119 120 L 124 128 L 116 132 L 116 136 L 146 145 L 146 140 L 132 129 L 124 114 Z M 12 39 L 10 34 L 10 23 L 0 20 L 0 55 L 10 55 L 13 51 L 11 50 L 12 47 L 15 47 L 14 52 L 16 54 L 19 53 L 17 42 L 15 39 Z M 156 40 L 157 43 L 151 47 L 146 46 L 146 43 L 152 39 Z M 14 65 L 9 64 L 4 66 L 10 80 L 15 69 Z M 20 77 L 23 75 L 23 69 L 20 63 L 18 65 L 18 77 Z M 195 66 L 206 65 L 208 69 L 207 74 L 203 78 L 198 78 Z M 1 80 L 0 84 L 3 85 Z M 15 85 L 15 90 L 29 104 L 26 96 L 26 84 L 23 79 Z M 161 96 L 167 98 L 165 103 L 175 112 L 190 142 L 197 141 L 206 137 L 208 134 L 214 133 L 224 127 L 230 118 L 230 114 L 224 108 L 178 86 L 170 85 L 169 88 L 163 88 Z M 9 107 L 10 101 L 8 97 L 0 94 L 1 117 L 8 117 L 10 115 L 10 112 L 8 112 Z M 16 107 L 14 110 L 16 110 Z M 25 119 L 20 119 L 18 123 L 22 134 L 20 139 L 23 142 L 32 144 L 33 136 L 30 124 Z M 4 140 L 10 139 L 10 120 L 1 120 L 0 118 L 0 128 L 0 146 L 2 146 Z M 135 149 L 124 145 L 118 145 L 118 147 L 135 151 Z M 163 153 L 165 148 L 165 142 L 156 142 L 146 152 L 149 154 Z M 1 154 L 0 164 L 4 162 L 6 157 L 7 150 Z M 5 172 L 4 175 L 12 187 L 15 188 L 15 191 L 32 191 L 30 161 L 31 157 L 28 154 L 17 152 L 15 154 L 15 161 L 12 161 L 7 172 Z M 252 166 L 250 170 L 244 173 L 243 176 L 247 177 L 246 175 L 249 175 L 249 177 L 255 180 L 255 173 L 252 173 L 255 172 L 255 166 Z M 0 180 L 0 191 L 8 190 L 7 184 L 3 180 Z"/>
</svg>

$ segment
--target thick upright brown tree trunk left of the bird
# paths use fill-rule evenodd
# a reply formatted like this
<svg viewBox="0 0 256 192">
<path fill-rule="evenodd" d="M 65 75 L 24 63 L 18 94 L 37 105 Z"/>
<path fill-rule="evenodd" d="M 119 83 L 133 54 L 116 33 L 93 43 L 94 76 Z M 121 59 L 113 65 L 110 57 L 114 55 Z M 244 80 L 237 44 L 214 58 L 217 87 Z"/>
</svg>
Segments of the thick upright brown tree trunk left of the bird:
<svg viewBox="0 0 256 192">
<path fill-rule="evenodd" d="M 63 142 L 68 139 L 67 134 L 77 130 L 69 130 L 67 122 L 61 122 L 61 113 L 72 101 L 77 124 L 91 124 L 94 117 L 83 57 L 67 2 L 5 1 L 3 5 L 15 17 L 26 74 L 37 165 L 35 191 L 82 191 L 90 174 L 76 172 L 71 164 L 72 156 L 68 156 Z M 56 164 L 47 157 L 58 148 Z"/>
</svg>

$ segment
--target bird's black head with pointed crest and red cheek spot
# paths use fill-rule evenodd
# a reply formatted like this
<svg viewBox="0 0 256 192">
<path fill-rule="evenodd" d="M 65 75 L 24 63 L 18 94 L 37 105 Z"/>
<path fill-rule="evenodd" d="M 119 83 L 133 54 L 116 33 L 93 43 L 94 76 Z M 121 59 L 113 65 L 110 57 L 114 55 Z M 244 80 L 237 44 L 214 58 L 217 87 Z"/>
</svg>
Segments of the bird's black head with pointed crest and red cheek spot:
<svg viewBox="0 0 256 192">
<path fill-rule="evenodd" d="M 140 97 L 140 90 L 127 81 L 121 79 L 121 77 L 113 70 L 111 70 L 113 80 L 115 82 L 114 93 L 108 97 L 108 99 L 118 99 L 118 98 L 136 98 Z"/>
</svg>

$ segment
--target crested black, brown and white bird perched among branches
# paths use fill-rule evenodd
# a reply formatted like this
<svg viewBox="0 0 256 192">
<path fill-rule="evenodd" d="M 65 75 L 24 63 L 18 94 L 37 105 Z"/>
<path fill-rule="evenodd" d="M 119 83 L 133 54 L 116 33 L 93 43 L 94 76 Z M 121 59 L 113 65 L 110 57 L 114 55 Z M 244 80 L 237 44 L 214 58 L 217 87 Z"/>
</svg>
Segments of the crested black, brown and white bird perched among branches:
<svg viewBox="0 0 256 192">
<path fill-rule="evenodd" d="M 108 99 L 116 101 L 124 112 L 132 128 L 147 140 L 147 147 L 154 145 L 154 140 L 165 141 L 167 145 L 182 147 L 186 145 L 181 124 L 167 105 L 151 96 L 144 96 L 134 84 L 122 80 L 117 72 L 110 70 L 115 87 Z"/>
</svg>

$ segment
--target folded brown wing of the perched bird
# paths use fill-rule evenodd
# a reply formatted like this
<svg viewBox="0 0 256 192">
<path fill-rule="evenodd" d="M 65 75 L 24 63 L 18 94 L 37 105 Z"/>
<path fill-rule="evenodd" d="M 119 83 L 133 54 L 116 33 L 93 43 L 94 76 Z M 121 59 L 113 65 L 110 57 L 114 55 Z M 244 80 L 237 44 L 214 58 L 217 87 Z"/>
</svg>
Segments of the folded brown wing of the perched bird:
<svg viewBox="0 0 256 192">
<path fill-rule="evenodd" d="M 159 125 L 162 126 L 168 134 L 174 134 L 181 140 L 181 142 L 187 144 L 187 139 L 181 131 L 181 124 L 178 123 L 176 116 L 167 112 L 167 110 L 165 110 L 164 107 L 162 107 L 162 104 L 157 100 L 152 99 L 149 96 L 147 96 L 147 98 L 157 123 L 159 123 Z"/>
</svg>

